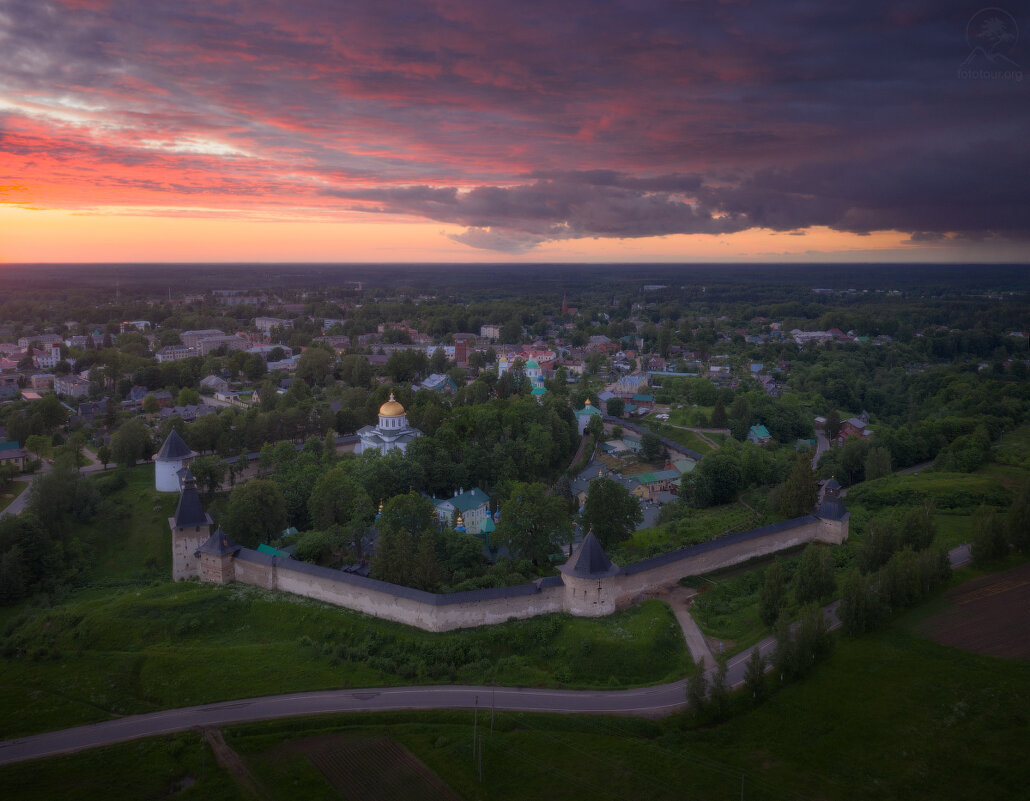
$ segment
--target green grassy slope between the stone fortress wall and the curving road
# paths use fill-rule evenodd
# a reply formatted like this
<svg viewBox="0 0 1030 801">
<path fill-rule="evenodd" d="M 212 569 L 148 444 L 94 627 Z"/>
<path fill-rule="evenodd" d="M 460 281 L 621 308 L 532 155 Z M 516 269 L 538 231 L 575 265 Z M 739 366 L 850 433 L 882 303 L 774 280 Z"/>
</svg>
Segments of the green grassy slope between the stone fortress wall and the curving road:
<svg viewBox="0 0 1030 801">
<path fill-rule="evenodd" d="M 628 687 L 682 674 L 659 601 L 444 634 L 284 593 L 196 582 L 94 589 L 6 617 L 0 737 L 283 692 L 407 684 Z"/>
</svg>

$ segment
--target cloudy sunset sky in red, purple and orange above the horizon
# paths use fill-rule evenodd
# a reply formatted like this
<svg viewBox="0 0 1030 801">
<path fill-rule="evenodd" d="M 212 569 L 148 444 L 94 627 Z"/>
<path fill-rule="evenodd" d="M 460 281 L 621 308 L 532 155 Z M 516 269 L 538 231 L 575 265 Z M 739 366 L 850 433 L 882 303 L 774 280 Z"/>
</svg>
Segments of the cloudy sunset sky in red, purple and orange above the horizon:
<svg viewBox="0 0 1030 801">
<path fill-rule="evenodd" d="M 0 0 L 0 262 L 1030 260 L 1030 20 L 837 5 Z"/>
</svg>

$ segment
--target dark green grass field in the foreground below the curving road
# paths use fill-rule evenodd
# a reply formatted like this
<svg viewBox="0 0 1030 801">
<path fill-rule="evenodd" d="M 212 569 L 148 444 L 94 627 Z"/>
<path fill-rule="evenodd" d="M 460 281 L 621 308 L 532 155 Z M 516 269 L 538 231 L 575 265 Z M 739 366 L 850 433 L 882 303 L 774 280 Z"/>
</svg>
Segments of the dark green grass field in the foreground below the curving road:
<svg viewBox="0 0 1030 801">
<path fill-rule="evenodd" d="M 489 716 L 481 713 L 482 783 L 472 762 L 471 711 L 276 721 L 232 727 L 226 736 L 275 799 L 338 797 L 311 768 L 303 746 L 288 758 L 269 754 L 284 739 L 337 732 L 389 736 L 459 796 L 496 801 L 736 799 L 742 773 L 752 801 L 1023 797 L 1030 786 L 1030 665 L 916 636 L 926 608 L 882 632 L 842 639 L 810 678 L 718 726 L 690 729 L 682 718 L 499 712 L 491 732 Z M 118 776 L 119 798 L 156 797 L 157 787 L 200 770 L 196 736 L 183 736 L 194 737 L 188 747 L 167 756 L 127 743 L 3 768 L 0 791 L 11 801 L 73 791 L 80 798 L 109 798 L 102 789 L 109 776 Z M 141 756 L 160 763 L 160 782 L 135 769 Z M 228 795 L 225 780 L 209 775 L 207 782 L 212 796 Z"/>
</svg>

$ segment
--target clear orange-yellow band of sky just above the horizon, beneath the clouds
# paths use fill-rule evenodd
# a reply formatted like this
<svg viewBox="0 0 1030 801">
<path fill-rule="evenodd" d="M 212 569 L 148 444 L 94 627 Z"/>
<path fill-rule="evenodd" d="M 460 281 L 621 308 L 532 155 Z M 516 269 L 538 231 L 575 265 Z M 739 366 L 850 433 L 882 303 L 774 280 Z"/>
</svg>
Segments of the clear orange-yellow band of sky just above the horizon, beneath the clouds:
<svg viewBox="0 0 1030 801">
<path fill-rule="evenodd" d="M 0 263 L 188 262 L 833 262 L 939 259 L 932 245 L 906 235 L 857 236 L 810 229 L 803 236 L 749 230 L 737 234 L 545 242 L 521 254 L 467 247 L 448 239 L 464 228 L 433 221 L 350 213 L 341 221 L 85 214 L 0 206 Z M 965 255 L 947 251 L 961 260 Z"/>
</svg>

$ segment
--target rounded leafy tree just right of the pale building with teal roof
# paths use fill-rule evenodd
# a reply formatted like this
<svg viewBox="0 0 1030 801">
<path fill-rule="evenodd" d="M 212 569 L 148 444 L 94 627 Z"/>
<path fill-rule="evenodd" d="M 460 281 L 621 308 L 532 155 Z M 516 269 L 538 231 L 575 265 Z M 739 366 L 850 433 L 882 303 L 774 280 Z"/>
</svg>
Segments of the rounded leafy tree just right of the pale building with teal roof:
<svg viewBox="0 0 1030 801">
<path fill-rule="evenodd" d="M 495 536 L 513 554 L 543 564 L 571 535 L 569 513 L 560 496 L 548 495 L 543 484 L 512 484 L 501 507 Z"/>
</svg>

